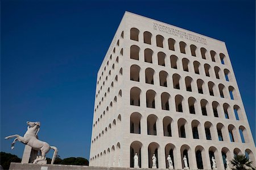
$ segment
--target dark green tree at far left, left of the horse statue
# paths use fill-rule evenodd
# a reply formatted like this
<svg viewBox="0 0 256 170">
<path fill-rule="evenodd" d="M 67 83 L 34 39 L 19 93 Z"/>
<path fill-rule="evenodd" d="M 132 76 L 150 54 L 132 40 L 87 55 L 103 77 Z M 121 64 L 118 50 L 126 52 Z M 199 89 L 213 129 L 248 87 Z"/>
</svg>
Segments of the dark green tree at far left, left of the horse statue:
<svg viewBox="0 0 256 170">
<path fill-rule="evenodd" d="M 6 152 L 0 152 L 0 160 L 3 169 L 9 169 L 11 162 L 21 162 L 21 159 L 18 156 L 13 154 L 7 154 Z"/>
</svg>

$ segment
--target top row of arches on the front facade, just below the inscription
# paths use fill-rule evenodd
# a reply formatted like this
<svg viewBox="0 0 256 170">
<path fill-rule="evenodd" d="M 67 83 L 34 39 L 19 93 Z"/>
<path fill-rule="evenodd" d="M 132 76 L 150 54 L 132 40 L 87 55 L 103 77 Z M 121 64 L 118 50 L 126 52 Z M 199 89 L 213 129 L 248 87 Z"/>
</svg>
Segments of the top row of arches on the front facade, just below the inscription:
<svg viewBox="0 0 256 170">
<path fill-rule="evenodd" d="M 131 28 L 130 39 L 139 42 L 139 32 L 140 31 L 137 28 Z M 228 64 L 228 59 L 224 55 L 224 53 L 220 53 L 217 56 L 217 53 L 213 50 L 208 52 L 207 49 L 205 49 L 204 47 L 201 47 L 199 49 L 194 44 L 187 45 L 185 42 L 176 43 L 176 40 L 172 38 L 169 38 L 166 42 L 165 38 L 162 35 L 156 35 L 154 41 L 156 47 L 168 48 L 172 51 L 177 51 L 177 49 L 179 49 L 180 53 L 189 54 L 194 57 L 201 57 L 202 59 L 210 60 L 221 64 Z M 143 32 L 143 42 L 146 44 L 152 43 L 152 34 L 150 32 Z"/>
</svg>

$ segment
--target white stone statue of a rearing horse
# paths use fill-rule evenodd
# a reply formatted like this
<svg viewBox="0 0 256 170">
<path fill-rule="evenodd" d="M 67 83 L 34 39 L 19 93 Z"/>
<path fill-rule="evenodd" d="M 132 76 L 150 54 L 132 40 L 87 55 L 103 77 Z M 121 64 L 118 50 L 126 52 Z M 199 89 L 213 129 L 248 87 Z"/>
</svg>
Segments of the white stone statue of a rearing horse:
<svg viewBox="0 0 256 170">
<path fill-rule="evenodd" d="M 16 140 L 18 140 L 19 142 L 22 142 L 32 147 L 33 150 L 36 150 L 36 151 L 40 150 L 41 155 L 36 157 L 36 159 L 33 161 L 33 164 L 40 163 L 40 161 L 42 160 L 46 160 L 46 154 L 49 152 L 50 149 L 53 149 L 54 153 L 53 153 L 52 162 L 51 162 L 51 164 L 53 164 L 57 156 L 58 150 L 56 147 L 49 146 L 48 143 L 38 140 L 40 122 L 27 122 L 27 125 L 28 125 L 27 132 L 24 134 L 23 137 L 20 135 L 11 135 L 11 136 L 5 137 L 5 139 L 15 138 L 13 143 L 11 143 L 11 149 L 12 150 L 14 149 L 14 144 Z"/>
</svg>

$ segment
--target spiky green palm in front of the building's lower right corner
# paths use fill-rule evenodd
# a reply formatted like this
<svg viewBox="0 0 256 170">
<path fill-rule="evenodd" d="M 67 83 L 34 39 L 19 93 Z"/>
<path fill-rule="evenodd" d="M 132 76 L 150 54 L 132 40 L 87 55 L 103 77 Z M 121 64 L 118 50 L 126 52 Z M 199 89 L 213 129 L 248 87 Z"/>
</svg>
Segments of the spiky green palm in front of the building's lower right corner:
<svg viewBox="0 0 256 170">
<path fill-rule="evenodd" d="M 233 165 L 233 170 L 244 170 L 244 169 L 250 169 L 255 170 L 255 168 L 252 167 L 253 161 L 250 161 L 248 157 L 245 155 L 234 155 L 233 159 L 231 160 L 231 163 Z"/>
</svg>

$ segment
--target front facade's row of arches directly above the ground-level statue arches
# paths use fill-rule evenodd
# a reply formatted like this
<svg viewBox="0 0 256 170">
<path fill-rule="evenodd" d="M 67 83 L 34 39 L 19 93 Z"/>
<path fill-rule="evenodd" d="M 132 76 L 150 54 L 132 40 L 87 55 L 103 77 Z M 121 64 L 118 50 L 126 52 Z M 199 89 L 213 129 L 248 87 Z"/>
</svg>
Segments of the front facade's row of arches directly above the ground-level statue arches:
<svg viewBox="0 0 256 170">
<path fill-rule="evenodd" d="M 134 112 L 130 115 L 130 133 L 141 134 L 141 121 L 142 115 L 140 113 Z M 169 116 L 164 117 L 161 121 L 155 114 L 148 115 L 143 121 L 143 125 L 147 125 L 147 135 L 163 135 L 226 142 L 251 142 L 246 128 L 242 125 L 239 126 L 237 130 L 232 124 L 228 126 L 222 123 L 213 125 L 209 121 L 200 122 L 196 119 L 189 123 L 185 118 L 178 119 L 176 123 Z M 162 128 L 163 134 L 159 134 L 160 128 Z M 160 132 L 162 133 L 162 131 Z"/>
</svg>

